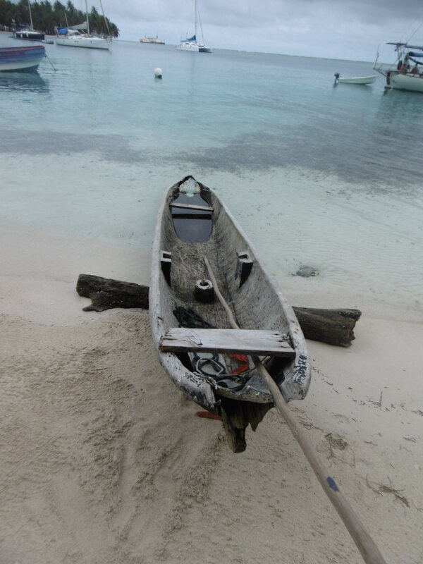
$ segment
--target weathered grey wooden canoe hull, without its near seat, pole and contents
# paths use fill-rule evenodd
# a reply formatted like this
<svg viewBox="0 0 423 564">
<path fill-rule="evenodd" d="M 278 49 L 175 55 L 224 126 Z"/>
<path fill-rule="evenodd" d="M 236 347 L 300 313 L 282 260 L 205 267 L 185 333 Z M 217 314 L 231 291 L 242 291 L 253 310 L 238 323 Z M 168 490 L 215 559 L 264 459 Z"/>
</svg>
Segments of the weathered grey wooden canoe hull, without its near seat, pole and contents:
<svg viewBox="0 0 423 564">
<path fill-rule="evenodd" d="M 267 404 L 267 407 L 274 403 L 273 396 L 255 369 L 245 381 L 245 386 L 233 390 L 221 386 L 210 377 L 197 374 L 190 365 L 188 355 L 161 350 L 166 332 L 178 327 L 174 314 L 176 307 L 193 309 L 209 326 L 230 328 L 227 314 L 218 300 L 204 303 L 195 297 L 196 283 L 208 278 L 204 264 L 204 257 L 207 257 L 219 290 L 230 305 L 240 328 L 259 332 L 276 331 L 286 336 L 293 348 L 293 355 L 271 357 L 268 369 L 287 401 L 304 398 L 311 371 L 305 338 L 293 309 L 266 274 L 257 253 L 226 205 L 214 191 L 201 183 L 197 185 L 204 206 L 198 206 L 197 209 L 199 213 L 207 213 L 203 208 L 212 210 L 209 212 L 212 218 L 209 238 L 187 243 L 178 237 L 172 218 L 178 207 L 171 204 L 180 194 L 181 185 L 184 186 L 190 178 L 184 178 L 166 191 L 154 235 L 149 315 L 161 364 L 174 384 L 190 399 L 218 415 L 221 415 L 219 406 L 223 398 L 226 405 L 227 400 Z M 188 207 L 191 208 L 188 210 L 190 212 L 195 208 Z"/>
</svg>

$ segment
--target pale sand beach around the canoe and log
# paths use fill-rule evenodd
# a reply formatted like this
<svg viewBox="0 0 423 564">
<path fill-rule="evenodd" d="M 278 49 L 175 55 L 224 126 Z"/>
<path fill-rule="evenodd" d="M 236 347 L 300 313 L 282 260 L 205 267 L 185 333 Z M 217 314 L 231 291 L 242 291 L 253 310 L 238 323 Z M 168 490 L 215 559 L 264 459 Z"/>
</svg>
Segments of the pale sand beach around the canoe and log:
<svg viewBox="0 0 423 564">
<path fill-rule="evenodd" d="M 362 563 L 276 410 L 233 454 L 161 369 L 148 312 L 82 311 L 80 273 L 147 285 L 148 256 L 0 233 L 1 564 Z M 386 561 L 421 564 L 423 324 L 362 309 L 350 348 L 308 341 L 290 407 Z"/>
</svg>

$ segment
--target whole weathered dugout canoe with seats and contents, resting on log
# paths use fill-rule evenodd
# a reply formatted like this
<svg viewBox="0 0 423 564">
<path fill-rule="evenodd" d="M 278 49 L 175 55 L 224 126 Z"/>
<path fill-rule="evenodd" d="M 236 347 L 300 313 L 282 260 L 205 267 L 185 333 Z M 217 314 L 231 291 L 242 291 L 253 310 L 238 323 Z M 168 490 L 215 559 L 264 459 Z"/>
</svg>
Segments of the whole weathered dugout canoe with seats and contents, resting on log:
<svg viewBox="0 0 423 564">
<path fill-rule="evenodd" d="M 240 329 L 231 329 L 216 291 Z M 159 209 L 149 316 L 168 376 L 221 416 L 233 451 L 245 450 L 245 428 L 255 430 L 274 405 L 251 355 L 286 401 L 305 398 L 311 369 L 293 308 L 226 205 L 192 176 L 171 185 Z"/>
</svg>

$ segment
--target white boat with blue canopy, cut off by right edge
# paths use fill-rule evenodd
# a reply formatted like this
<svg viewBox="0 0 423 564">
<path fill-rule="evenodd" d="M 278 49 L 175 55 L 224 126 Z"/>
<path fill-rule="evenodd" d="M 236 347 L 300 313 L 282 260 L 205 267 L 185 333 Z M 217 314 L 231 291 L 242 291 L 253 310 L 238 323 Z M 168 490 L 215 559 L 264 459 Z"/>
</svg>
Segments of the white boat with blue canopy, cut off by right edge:
<svg viewBox="0 0 423 564">
<path fill-rule="evenodd" d="M 387 44 L 395 45 L 396 63 L 379 63 L 378 52 L 373 66 L 386 78 L 386 88 L 423 92 L 423 47 L 400 42 Z"/>
</svg>

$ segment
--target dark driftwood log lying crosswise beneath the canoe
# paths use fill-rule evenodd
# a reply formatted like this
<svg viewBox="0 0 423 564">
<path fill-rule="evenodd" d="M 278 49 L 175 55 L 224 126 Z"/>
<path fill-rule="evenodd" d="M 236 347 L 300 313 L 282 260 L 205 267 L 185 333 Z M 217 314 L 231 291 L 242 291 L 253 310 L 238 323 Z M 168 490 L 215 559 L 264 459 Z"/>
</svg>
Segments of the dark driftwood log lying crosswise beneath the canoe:
<svg viewBox="0 0 423 564">
<path fill-rule="evenodd" d="M 132 282 L 80 274 L 76 291 L 91 304 L 84 311 L 103 312 L 113 307 L 142 307 L 148 309 L 148 286 Z M 359 309 L 317 309 L 293 307 L 305 338 L 329 345 L 349 347 L 355 339 L 355 323 L 360 319 Z"/>
</svg>

